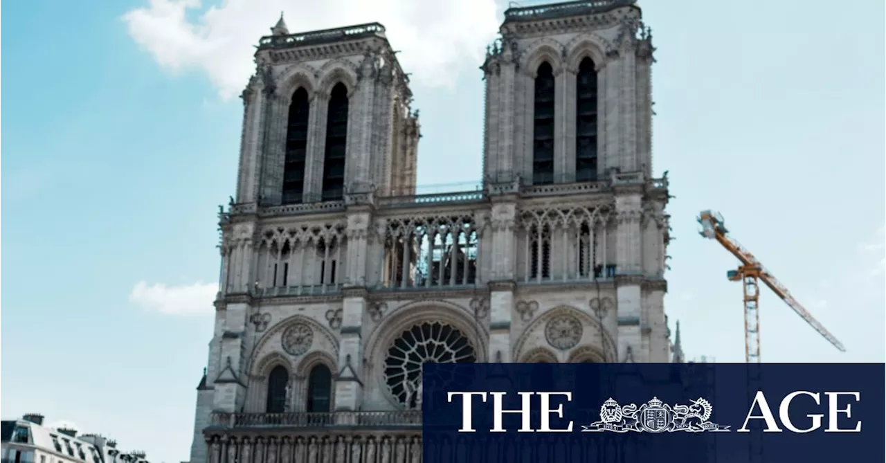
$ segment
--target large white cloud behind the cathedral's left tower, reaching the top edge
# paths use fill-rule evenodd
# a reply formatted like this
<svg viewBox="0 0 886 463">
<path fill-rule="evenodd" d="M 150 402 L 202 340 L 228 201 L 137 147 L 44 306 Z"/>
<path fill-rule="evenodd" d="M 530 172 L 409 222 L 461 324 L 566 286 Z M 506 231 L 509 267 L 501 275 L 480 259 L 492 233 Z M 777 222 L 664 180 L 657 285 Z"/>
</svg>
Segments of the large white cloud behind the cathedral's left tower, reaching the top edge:
<svg viewBox="0 0 886 463">
<path fill-rule="evenodd" d="M 412 81 L 448 87 L 477 70 L 499 27 L 495 0 L 225 0 L 197 18 L 200 0 L 149 0 L 123 15 L 129 35 L 172 71 L 208 75 L 221 97 L 237 95 L 254 70 L 253 45 L 270 34 L 280 12 L 292 33 L 367 22 L 385 26 Z"/>
</svg>

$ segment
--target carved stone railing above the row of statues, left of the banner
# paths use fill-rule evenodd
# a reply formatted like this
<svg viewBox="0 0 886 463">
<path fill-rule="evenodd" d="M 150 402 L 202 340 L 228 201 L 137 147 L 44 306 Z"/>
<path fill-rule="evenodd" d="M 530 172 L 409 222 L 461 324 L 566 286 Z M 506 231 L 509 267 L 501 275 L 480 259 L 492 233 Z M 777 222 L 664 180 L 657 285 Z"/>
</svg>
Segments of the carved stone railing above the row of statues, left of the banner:
<svg viewBox="0 0 886 463">
<path fill-rule="evenodd" d="M 330 413 L 213 413 L 213 428 L 420 428 L 420 410 Z"/>
</svg>

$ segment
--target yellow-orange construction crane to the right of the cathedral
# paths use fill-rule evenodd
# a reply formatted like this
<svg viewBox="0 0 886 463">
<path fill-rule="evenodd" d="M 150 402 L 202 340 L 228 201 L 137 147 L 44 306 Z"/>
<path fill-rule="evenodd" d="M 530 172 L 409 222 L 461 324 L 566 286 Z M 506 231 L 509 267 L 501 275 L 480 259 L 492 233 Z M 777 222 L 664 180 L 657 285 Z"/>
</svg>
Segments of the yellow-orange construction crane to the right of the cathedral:
<svg viewBox="0 0 886 463">
<path fill-rule="evenodd" d="M 759 314 L 759 296 L 758 280 L 766 283 L 769 289 L 781 297 L 785 304 L 789 305 L 794 312 L 797 313 L 812 328 L 815 328 L 821 336 L 824 336 L 829 343 L 834 344 L 838 350 L 845 352 L 843 343 L 838 341 L 827 328 L 821 325 L 818 320 L 812 317 L 812 314 L 804 309 L 803 305 L 792 297 L 787 288 L 779 282 L 773 274 L 769 273 L 757 258 L 750 251 L 744 249 L 734 239 L 728 236 L 729 231 L 723 224 L 723 216 L 719 212 L 703 211 L 698 215 L 698 223 L 702 224 L 702 231 L 699 235 L 712 240 L 717 240 L 723 245 L 727 251 L 731 252 L 739 261 L 742 262 L 737 270 L 727 272 L 727 278 L 731 282 L 744 283 L 744 358 L 747 363 L 760 362 L 760 314 Z"/>
</svg>

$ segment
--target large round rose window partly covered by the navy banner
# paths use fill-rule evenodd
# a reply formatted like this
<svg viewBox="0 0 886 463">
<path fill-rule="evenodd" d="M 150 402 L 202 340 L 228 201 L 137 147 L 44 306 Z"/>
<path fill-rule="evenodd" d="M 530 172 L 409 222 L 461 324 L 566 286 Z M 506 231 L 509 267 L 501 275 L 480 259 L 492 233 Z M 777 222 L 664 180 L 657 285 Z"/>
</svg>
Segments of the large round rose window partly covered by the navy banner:
<svg viewBox="0 0 886 463">
<path fill-rule="evenodd" d="M 416 400 L 423 363 L 472 363 L 474 348 L 461 331 L 439 321 L 419 323 L 404 331 L 387 351 L 385 382 L 400 404 Z"/>
</svg>

